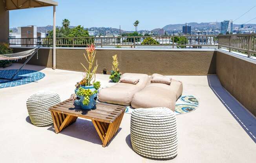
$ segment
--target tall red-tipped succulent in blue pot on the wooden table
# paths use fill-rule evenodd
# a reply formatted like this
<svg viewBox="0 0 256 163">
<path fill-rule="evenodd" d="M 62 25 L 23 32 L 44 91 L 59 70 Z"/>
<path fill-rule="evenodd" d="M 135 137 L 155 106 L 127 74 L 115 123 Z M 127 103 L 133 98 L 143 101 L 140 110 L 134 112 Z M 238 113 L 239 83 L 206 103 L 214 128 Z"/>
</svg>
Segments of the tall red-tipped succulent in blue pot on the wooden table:
<svg viewBox="0 0 256 163">
<path fill-rule="evenodd" d="M 86 52 L 87 56 L 84 54 L 84 57 L 86 58 L 89 66 L 86 68 L 81 63 L 81 65 L 84 67 L 85 74 L 83 79 L 75 85 L 75 94 L 77 96 L 75 104 L 80 105 L 82 109 L 93 109 L 96 105 L 97 94 L 99 88 L 101 87 L 101 83 L 95 82 L 98 64 L 96 60 L 96 65 L 94 65 L 96 54 L 94 45 L 92 44 L 86 48 Z"/>
</svg>

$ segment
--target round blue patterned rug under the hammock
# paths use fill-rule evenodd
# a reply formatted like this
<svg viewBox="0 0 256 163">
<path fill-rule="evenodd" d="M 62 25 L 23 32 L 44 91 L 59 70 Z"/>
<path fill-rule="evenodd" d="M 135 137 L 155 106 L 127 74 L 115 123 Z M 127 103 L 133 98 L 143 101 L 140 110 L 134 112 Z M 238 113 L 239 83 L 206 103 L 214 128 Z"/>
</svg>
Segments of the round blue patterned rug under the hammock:
<svg viewBox="0 0 256 163">
<path fill-rule="evenodd" d="M 0 70 L 0 78 L 11 78 L 17 69 Z M 35 82 L 44 78 L 45 74 L 35 70 L 22 69 L 16 74 L 12 81 L 0 79 L 0 88 L 15 87 L 27 83 Z"/>
</svg>

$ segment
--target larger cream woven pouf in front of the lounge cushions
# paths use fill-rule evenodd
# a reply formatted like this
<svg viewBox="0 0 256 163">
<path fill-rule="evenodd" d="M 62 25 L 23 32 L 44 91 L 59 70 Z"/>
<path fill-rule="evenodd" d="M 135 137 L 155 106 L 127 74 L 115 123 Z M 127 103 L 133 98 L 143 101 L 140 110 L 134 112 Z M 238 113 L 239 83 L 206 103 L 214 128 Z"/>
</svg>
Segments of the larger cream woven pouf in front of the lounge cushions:
<svg viewBox="0 0 256 163">
<path fill-rule="evenodd" d="M 174 112 L 165 107 L 135 109 L 131 116 L 132 148 L 154 159 L 177 156 L 177 126 Z"/>
</svg>

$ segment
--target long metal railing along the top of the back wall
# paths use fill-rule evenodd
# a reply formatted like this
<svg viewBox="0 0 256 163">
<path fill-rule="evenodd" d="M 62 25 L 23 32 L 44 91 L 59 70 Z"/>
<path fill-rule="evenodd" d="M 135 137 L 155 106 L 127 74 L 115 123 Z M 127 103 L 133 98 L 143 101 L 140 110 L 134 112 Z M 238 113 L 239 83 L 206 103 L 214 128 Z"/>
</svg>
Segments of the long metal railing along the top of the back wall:
<svg viewBox="0 0 256 163">
<path fill-rule="evenodd" d="M 56 38 L 57 47 L 86 47 L 93 43 L 103 46 L 167 46 L 169 48 L 201 48 L 217 46 L 216 35 L 186 36 L 116 36 L 116 37 L 69 37 Z M 9 38 L 10 45 L 52 46 L 53 38 Z"/>
</svg>

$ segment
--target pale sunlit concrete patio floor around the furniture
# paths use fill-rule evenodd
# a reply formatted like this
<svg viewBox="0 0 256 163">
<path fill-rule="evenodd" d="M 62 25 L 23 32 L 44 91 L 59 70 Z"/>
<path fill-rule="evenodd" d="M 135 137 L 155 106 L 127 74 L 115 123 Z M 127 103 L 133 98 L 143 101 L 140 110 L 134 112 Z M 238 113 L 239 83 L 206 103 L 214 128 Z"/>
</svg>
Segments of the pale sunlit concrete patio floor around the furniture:
<svg viewBox="0 0 256 163">
<path fill-rule="evenodd" d="M 5 69 L 17 69 L 20 64 Z M 232 103 L 252 133 L 236 120 L 216 93 L 209 87 L 209 76 L 172 76 L 183 82 L 183 94 L 199 99 L 199 107 L 193 112 L 177 116 L 178 155 L 172 160 L 144 158 L 132 150 L 130 143 L 130 114 L 124 114 L 119 132 L 110 144 L 103 148 L 93 124 L 78 119 L 59 134 L 53 127 L 36 127 L 31 124 L 27 109 L 27 98 L 40 90 L 55 91 L 61 100 L 69 98 L 75 83 L 81 80 L 82 72 L 26 65 L 46 74 L 37 82 L 0 89 L 0 158 L 3 163 L 51 163 L 51 162 L 96 162 L 96 163 L 255 163 L 256 143 L 252 136 L 256 132 L 256 120 L 235 100 L 225 95 Z M 218 78 L 212 86 L 221 89 Z M 102 87 L 111 86 L 108 75 L 97 74 Z M 217 90 L 218 91 L 218 90 Z M 223 92 L 222 92 L 223 93 Z M 223 98 L 221 98 L 223 99 Z M 234 105 L 233 105 L 234 104 Z M 240 110 L 239 110 L 240 109 Z M 239 116 L 239 115 L 238 115 Z"/>
</svg>

